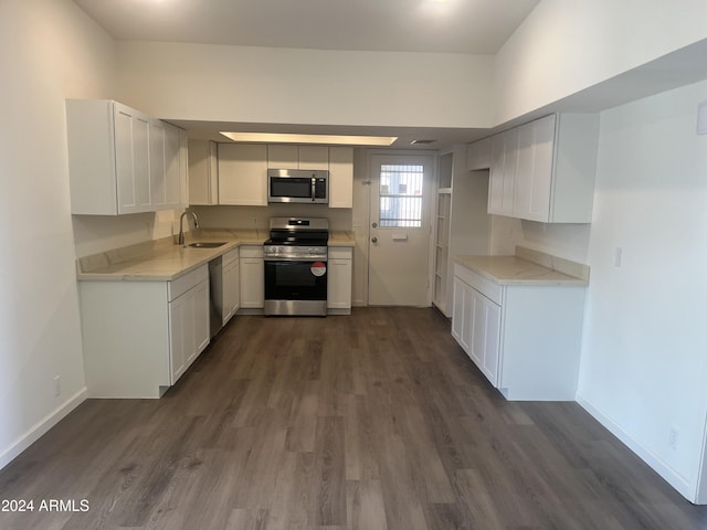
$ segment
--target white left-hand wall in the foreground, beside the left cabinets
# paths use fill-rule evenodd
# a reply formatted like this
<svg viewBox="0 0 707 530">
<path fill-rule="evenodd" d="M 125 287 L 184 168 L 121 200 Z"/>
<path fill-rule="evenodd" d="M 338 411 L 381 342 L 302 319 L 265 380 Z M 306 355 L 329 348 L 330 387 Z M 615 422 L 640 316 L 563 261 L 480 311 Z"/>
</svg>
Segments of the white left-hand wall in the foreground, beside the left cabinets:
<svg viewBox="0 0 707 530">
<path fill-rule="evenodd" d="M 0 466 L 84 396 L 64 99 L 109 96 L 113 72 L 72 2 L 0 2 Z"/>
</svg>

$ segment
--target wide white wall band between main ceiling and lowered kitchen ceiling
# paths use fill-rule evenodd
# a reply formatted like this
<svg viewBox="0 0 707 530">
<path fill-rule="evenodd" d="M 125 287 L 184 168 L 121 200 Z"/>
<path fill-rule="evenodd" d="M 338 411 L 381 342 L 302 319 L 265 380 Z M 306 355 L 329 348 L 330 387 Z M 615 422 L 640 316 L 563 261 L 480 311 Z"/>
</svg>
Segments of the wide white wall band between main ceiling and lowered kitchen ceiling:
<svg viewBox="0 0 707 530">
<path fill-rule="evenodd" d="M 161 118 L 489 127 L 489 55 L 119 42 L 125 103 Z"/>
</svg>

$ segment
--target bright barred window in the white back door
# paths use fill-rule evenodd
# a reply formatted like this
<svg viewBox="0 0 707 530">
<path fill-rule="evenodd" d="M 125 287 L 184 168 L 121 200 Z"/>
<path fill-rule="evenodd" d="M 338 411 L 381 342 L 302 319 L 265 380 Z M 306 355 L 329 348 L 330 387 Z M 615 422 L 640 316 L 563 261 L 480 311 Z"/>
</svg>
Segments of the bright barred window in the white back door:
<svg viewBox="0 0 707 530">
<path fill-rule="evenodd" d="M 380 167 L 380 226 L 422 226 L 424 166 Z"/>
</svg>

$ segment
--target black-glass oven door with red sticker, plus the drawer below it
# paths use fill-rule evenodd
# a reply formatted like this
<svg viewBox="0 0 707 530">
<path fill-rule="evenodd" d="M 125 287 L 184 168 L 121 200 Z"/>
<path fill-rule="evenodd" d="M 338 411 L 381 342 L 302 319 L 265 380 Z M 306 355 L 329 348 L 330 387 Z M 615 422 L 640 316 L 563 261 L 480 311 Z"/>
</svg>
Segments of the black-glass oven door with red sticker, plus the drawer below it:
<svg viewBox="0 0 707 530">
<path fill-rule="evenodd" d="M 265 315 L 326 315 L 327 262 L 265 259 Z"/>
</svg>

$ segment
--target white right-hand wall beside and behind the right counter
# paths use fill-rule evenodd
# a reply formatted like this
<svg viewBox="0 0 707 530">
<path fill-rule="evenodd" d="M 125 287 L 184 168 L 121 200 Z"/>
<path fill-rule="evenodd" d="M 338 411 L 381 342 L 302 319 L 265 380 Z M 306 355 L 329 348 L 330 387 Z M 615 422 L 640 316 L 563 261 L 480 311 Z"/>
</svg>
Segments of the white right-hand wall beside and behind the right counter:
<svg viewBox="0 0 707 530">
<path fill-rule="evenodd" d="M 578 401 L 690 500 L 707 413 L 701 100 L 707 82 L 602 113 L 591 225 L 495 218 L 492 236 L 590 265 Z"/>
</svg>

